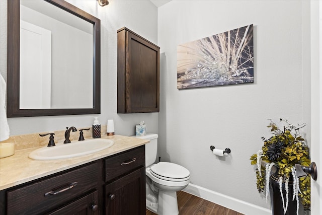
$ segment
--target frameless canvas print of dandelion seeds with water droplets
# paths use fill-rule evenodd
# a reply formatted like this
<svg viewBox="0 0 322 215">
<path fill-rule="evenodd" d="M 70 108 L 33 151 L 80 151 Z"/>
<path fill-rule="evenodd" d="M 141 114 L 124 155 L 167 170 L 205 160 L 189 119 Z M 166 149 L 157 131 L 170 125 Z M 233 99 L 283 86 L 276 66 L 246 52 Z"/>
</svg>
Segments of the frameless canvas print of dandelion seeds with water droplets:
<svg viewBox="0 0 322 215">
<path fill-rule="evenodd" d="M 253 25 L 177 47 L 178 89 L 253 82 Z"/>
</svg>

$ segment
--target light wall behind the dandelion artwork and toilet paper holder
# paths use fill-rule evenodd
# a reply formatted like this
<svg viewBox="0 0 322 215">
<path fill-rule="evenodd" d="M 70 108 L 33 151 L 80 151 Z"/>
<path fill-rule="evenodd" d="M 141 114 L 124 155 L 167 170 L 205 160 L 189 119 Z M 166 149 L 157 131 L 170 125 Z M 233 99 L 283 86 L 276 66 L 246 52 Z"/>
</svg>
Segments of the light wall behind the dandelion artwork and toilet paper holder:
<svg viewBox="0 0 322 215">
<path fill-rule="evenodd" d="M 192 184 L 270 208 L 257 192 L 249 158 L 262 147 L 261 137 L 270 135 L 269 118 L 307 122 L 303 131 L 309 130 L 307 23 L 308 1 L 174 0 L 158 8 L 161 160 L 188 168 Z M 177 45 L 249 24 L 254 84 L 177 89 Z M 218 158 L 211 145 L 231 154 Z"/>
</svg>

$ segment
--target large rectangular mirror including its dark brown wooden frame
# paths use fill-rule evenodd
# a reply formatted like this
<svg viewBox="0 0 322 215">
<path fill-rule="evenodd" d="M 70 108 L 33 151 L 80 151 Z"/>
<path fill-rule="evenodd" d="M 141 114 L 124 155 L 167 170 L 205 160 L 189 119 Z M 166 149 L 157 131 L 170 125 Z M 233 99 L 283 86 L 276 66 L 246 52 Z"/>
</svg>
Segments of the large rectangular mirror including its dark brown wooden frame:
<svg viewBox="0 0 322 215">
<path fill-rule="evenodd" d="M 8 0 L 7 116 L 100 113 L 100 25 L 63 0 Z"/>
</svg>

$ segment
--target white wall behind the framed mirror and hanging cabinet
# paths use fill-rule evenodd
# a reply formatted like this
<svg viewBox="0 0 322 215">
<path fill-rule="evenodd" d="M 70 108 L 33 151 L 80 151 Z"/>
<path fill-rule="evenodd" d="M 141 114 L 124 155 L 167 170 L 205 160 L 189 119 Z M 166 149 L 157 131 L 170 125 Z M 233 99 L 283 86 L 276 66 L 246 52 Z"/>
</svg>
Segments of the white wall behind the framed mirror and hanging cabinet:
<svg viewBox="0 0 322 215">
<path fill-rule="evenodd" d="M 65 126 L 87 127 L 98 116 L 101 124 L 114 119 L 116 134 L 133 135 L 135 124 L 144 120 L 149 132 L 158 130 L 158 113 L 117 114 L 117 33 L 124 26 L 157 42 L 157 8 L 150 1 L 67 1 L 101 19 L 101 114 L 9 118 L 10 135 L 64 130 Z M 7 78 L 7 1 L 0 1 L 0 71 Z M 82 95 L 75 95 L 82 98 Z"/>
</svg>

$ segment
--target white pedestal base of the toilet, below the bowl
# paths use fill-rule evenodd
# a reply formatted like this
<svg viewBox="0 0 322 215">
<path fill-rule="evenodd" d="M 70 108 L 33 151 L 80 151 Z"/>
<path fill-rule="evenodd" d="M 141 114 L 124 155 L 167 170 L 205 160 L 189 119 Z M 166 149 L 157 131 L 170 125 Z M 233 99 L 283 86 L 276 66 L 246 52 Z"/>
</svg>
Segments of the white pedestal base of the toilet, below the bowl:
<svg viewBox="0 0 322 215">
<path fill-rule="evenodd" d="M 158 194 L 158 215 L 178 215 L 177 192 L 159 190 Z"/>
</svg>

